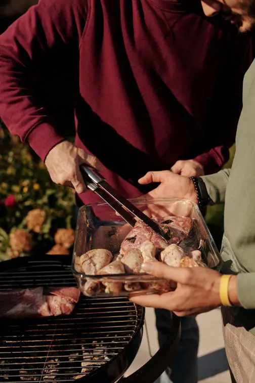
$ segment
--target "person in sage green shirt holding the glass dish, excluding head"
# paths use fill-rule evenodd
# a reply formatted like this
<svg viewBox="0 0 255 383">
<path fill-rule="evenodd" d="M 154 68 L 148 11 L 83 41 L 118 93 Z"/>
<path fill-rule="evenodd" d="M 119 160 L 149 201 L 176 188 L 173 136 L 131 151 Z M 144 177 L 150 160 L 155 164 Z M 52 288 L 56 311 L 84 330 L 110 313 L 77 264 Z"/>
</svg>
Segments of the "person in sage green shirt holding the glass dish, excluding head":
<svg viewBox="0 0 255 383">
<path fill-rule="evenodd" d="M 225 203 L 221 273 L 209 268 L 173 268 L 145 263 L 149 274 L 177 282 L 175 291 L 140 295 L 139 305 L 178 316 L 222 306 L 225 347 L 233 382 L 255 382 L 255 60 L 243 83 L 243 109 L 231 169 L 200 178 L 171 171 L 149 172 L 141 184 L 160 183 L 143 198 L 182 198 L 200 206 Z"/>
</svg>

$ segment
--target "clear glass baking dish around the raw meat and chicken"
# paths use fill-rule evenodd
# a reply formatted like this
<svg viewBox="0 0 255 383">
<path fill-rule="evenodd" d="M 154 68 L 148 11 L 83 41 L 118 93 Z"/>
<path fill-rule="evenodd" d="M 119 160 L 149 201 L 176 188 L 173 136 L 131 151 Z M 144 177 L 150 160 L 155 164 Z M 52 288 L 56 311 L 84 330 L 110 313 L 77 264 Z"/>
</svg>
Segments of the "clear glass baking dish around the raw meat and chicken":
<svg viewBox="0 0 255 383">
<path fill-rule="evenodd" d="M 188 200 L 152 199 L 136 202 L 130 200 L 151 218 L 167 219 L 169 217 L 189 217 L 192 228 L 187 238 L 178 245 L 187 251 L 188 248 L 201 251 L 202 262 L 207 267 L 220 267 L 220 254 L 205 224 L 198 206 Z M 116 215 L 106 203 L 92 203 L 80 207 L 78 212 L 75 242 L 72 258 L 72 272 L 78 288 L 87 296 L 131 296 L 134 294 L 155 293 L 165 290 L 163 280 L 146 273 L 86 275 L 80 266 L 80 256 L 92 249 L 110 250 L 114 258 L 120 250 L 122 240 L 132 227 Z M 106 292 L 105 286 L 116 286 Z M 162 287 L 163 286 L 163 287 Z M 106 290 L 106 291 L 105 291 Z"/>
</svg>

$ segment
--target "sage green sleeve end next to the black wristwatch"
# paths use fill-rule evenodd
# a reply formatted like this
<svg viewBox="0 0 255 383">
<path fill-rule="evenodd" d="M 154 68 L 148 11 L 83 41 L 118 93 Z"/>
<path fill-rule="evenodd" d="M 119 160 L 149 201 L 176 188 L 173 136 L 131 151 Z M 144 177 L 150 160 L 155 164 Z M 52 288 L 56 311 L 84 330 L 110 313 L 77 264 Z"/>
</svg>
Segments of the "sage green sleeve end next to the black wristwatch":
<svg viewBox="0 0 255 383">
<path fill-rule="evenodd" d="M 223 169 L 218 173 L 201 177 L 205 183 L 207 193 L 213 203 L 224 203 L 226 188 L 231 169 Z"/>
</svg>

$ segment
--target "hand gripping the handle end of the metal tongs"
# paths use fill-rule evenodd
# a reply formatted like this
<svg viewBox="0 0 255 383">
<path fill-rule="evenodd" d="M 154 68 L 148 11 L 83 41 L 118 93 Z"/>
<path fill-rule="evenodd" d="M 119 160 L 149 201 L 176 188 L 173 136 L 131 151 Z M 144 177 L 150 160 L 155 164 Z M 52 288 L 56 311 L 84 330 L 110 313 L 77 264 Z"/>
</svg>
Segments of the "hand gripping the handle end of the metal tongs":
<svg viewBox="0 0 255 383">
<path fill-rule="evenodd" d="M 56 145 L 47 155 L 45 164 L 51 179 L 56 184 L 73 187 L 76 193 L 87 190 L 79 170 L 86 163 L 100 170 L 100 161 L 86 151 L 77 148 L 68 141 Z"/>
</svg>

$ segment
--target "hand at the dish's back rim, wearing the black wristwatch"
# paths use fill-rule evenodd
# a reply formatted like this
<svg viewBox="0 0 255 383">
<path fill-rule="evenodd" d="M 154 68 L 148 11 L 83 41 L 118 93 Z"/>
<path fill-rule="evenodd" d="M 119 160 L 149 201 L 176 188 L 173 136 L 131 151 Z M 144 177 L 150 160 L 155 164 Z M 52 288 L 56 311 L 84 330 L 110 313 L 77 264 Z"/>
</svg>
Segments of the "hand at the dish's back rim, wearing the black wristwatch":
<svg viewBox="0 0 255 383">
<path fill-rule="evenodd" d="M 157 188 L 141 197 L 143 200 L 151 198 L 179 198 L 197 203 L 197 194 L 193 182 L 189 178 L 177 175 L 171 171 L 148 172 L 138 182 L 141 185 L 160 182 Z"/>
</svg>

